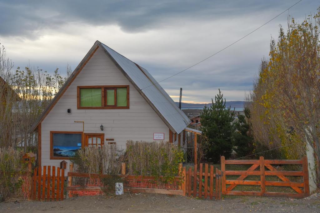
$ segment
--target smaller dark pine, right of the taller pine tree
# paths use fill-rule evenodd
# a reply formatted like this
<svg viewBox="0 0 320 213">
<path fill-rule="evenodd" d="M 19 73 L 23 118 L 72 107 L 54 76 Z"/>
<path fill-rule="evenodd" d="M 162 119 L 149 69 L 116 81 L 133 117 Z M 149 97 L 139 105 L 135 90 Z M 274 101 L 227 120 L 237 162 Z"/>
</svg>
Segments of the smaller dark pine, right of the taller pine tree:
<svg viewBox="0 0 320 213">
<path fill-rule="evenodd" d="M 238 120 L 235 122 L 234 132 L 234 150 L 238 157 L 251 155 L 254 149 L 253 138 L 250 136 L 250 125 L 247 123 L 246 118 L 250 118 L 250 110 L 244 109 L 244 115 L 238 113 Z"/>
</svg>

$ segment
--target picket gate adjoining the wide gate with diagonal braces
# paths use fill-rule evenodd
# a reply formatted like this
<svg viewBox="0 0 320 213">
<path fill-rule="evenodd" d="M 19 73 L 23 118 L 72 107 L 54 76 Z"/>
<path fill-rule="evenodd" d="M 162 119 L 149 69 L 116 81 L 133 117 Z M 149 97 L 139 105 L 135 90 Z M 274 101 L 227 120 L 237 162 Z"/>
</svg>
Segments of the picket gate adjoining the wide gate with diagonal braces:
<svg viewBox="0 0 320 213">
<path fill-rule="evenodd" d="M 197 165 L 189 167 L 186 172 L 186 195 L 211 200 L 215 197 L 215 200 L 221 199 L 221 171 L 216 168 L 214 173 L 213 165 L 203 164 L 199 165 L 199 171 Z"/>
</svg>

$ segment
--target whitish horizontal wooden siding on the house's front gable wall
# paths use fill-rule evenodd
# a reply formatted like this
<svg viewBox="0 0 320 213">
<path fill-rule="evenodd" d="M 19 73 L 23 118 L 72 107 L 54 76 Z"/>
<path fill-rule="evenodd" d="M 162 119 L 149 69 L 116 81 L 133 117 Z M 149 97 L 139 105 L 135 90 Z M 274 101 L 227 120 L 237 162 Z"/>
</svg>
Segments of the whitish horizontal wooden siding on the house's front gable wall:
<svg viewBox="0 0 320 213">
<path fill-rule="evenodd" d="M 129 85 L 130 109 L 77 109 L 77 86 L 95 85 Z M 60 165 L 62 160 L 50 160 L 50 131 L 82 131 L 82 123 L 75 120 L 84 121 L 84 133 L 104 133 L 105 139 L 113 138 L 121 148 L 127 140 L 153 141 L 157 132 L 163 132 L 164 141 L 169 141 L 168 126 L 100 48 L 41 124 L 42 165 Z"/>
</svg>

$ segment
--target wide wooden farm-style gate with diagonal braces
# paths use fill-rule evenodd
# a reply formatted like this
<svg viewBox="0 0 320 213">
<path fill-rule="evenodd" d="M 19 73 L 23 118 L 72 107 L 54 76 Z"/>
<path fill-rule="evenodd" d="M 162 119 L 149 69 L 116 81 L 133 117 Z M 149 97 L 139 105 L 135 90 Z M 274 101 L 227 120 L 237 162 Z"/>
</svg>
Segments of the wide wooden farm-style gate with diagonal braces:
<svg viewBox="0 0 320 213">
<path fill-rule="evenodd" d="M 252 164 L 246 171 L 229 171 L 226 170 L 226 164 Z M 296 164 L 302 165 L 302 171 L 278 171 L 272 164 Z M 266 170 L 266 168 L 268 170 Z M 256 170 L 259 169 L 259 170 Z M 302 160 L 265 160 L 263 156 L 259 160 L 225 160 L 221 156 L 221 172 L 222 172 L 222 194 L 225 195 L 251 195 L 251 196 L 270 196 L 270 197 L 294 197 L 303 198 L 309 195 L 309 177 L 308 162 L 304 157 Z M 236 180 L 227 179 L 227 176 L 240 175 Z M 244 180 L 246 177 L 260 176 L 260 178 L 251 178 Z M 278 180 L 266 180 L 270 176 L 276 176 Z M 301 177 L 302 182 L 294 182 L 285 176 Z M 255 180 L 252 180 L 255 179 Z M 298 178 L 299 179 L 299 178 Z M 228 187 L 227 187 L 228 185 Z M 260 186 L 260 191 L 232 191 L 238 185 L 255 185 Z M 266 190 L 266 186 L 287 186 L 291 187 L 296 193 L 272 192 Z"/>
</svg>

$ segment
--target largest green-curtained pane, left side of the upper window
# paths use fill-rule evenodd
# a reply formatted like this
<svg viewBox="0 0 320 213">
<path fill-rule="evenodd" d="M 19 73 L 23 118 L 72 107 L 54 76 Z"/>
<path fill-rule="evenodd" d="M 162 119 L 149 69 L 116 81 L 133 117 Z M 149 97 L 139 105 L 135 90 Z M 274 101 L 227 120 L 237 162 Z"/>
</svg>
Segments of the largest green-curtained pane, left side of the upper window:
<svg viewBox="0 0 320 213">
<path fill-rule="evenodd" d="M 101 88 L 80 88 L 80 106 L 100 107 Z"/>
</svg>

